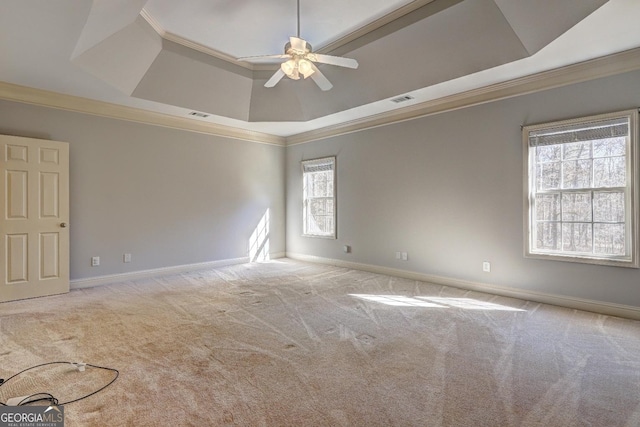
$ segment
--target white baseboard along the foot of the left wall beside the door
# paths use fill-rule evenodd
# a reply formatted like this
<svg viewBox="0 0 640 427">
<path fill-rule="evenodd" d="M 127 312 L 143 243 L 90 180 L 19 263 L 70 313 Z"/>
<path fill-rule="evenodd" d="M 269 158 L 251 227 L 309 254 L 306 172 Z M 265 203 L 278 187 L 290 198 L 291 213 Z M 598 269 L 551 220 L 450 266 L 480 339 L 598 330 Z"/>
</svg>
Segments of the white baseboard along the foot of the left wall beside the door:
<svg viewBox="0 0 640 427">
<path fill-rule="evenodd" d="M 284 258 L 284 252 L 269 254 L 270 259 Z M 153 268 L 150 270 L 132 271 L 129 273 L 109 274 L 106 276 L 88 277 L 86 279 L 71 280 L 71 289 L 92 288 L 94 286 L 106 285 L 108 283 L 126 282 L 128 280 L 145 279 L 149 277 L 164 276 L 167 274 L 184 273 L 186 271 L 206 270 L 208 268 L 224 267 L 227 265 L 245 264 L 249 262 L 248 257 L 223 259 L 219 261 L 201 262 L 196 264 L 175 265 L 172 267 Z"/>
</svg>

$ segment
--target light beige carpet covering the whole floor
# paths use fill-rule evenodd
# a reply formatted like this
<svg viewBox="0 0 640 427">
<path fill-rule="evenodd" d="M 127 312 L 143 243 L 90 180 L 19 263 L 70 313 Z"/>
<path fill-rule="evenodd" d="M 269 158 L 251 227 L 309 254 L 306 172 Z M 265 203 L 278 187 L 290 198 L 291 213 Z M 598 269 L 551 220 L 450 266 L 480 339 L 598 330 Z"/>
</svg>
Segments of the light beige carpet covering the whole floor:
<svg viewBox="0 0 640 427">
<path fill-rule="evenodd" d="M 68 427 L 640 426 L 640 322 L 291 260 L 0 304 L 0 343 L 120 371 Z M 112 374 L 30 375 L 0 400 Z"/>
</svg>

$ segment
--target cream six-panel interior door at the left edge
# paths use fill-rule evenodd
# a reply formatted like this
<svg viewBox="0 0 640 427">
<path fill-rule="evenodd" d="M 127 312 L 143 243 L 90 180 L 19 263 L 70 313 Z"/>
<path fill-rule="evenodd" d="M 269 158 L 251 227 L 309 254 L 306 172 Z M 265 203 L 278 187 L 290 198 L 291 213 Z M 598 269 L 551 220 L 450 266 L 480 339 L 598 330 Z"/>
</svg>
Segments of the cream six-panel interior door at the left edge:
<svg viewBox="0 0 640 427">
<path fill-rule="evenodd" d="M 0 302 L 69 292 L 69 144 L 0 135 Z"/>
</svg>

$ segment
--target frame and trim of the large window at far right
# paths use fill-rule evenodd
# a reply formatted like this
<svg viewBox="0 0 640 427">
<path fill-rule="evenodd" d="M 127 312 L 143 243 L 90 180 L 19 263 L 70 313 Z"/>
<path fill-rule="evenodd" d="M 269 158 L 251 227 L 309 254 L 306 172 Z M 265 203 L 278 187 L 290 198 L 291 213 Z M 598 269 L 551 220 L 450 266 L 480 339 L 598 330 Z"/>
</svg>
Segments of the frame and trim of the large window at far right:
<svg viewBox="0 0 640 427">
<path fill-rule="evenodd" d="M 587 254 L 587 253 L 567 253 L 555 252 L 553 250 L 539 250 L 534 246 L 536 239 L 536 221 L 535 221 L 535 195 L 536 195 L 536 159 L 535 146 L 530 144 L 530 135 L 532 132 L 544 132 L 552 129 L 576 126 L 580 124 L 589 125 L 593 122 L 627 119 L 629 122 L 629 135 L 626 137 L 625 155 L 626 155 L 626 185 L 625 194 L 625 254 L 606 255 L 606 254 Z M 638 109 L 625 110 L 613 113 L 598 114 L 593 116 L 579 117 L 569 120 L 555 121 L 549 123 L 541 123 L 536 125 L 528 125 L 522 127 L 523 142 L 523 183 L 524 183 L 524 256 L 525 258 L 546 259 L 556 261 L 578 262 L 586 264 L 609 265 L 619 267 L 640 267 L 640 203 L 638 176 L 640 175 L 640 158 L 639 158 L 639 142 L 638 142 Z M 593 159 L 593 157 L 591 157 Z M 590 187 L 581 189 L 559 189 L 557 192 L 562 197 L 565 193 L 586 193 L 591 192 L 592 197 L 594 191 L 601 189 L 607 191 L 613 187 L 595 187 L 593 182 Z M 540 191 L 543 193 L 543 191 Z M 559 223 L 571 222 L 563 220 L 562 214 Z M 591 223 L 596 223 L 591 218 Z M 593 239 L 593 237 L 592 237 Z M 593 244 L 592 244 L 593 245 Z"/>
</svg>

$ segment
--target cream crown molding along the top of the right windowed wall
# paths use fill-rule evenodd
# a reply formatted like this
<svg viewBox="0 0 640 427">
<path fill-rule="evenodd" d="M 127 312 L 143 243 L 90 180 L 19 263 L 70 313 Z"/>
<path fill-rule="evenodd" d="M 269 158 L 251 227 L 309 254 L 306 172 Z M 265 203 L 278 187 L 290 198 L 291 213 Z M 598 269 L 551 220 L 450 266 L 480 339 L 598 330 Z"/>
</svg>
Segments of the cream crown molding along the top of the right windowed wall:
<svg viewBox="0 0 640 427">
<path fill-rule="evenodd" d="M 287 137 L 287 146 L 304 144 L 447 111 L 540 92 L 640 69 L 640 48 L 543 71 L 477 89 L 429 100 L 385 113 L 343 122 Z"/>
</svg>

